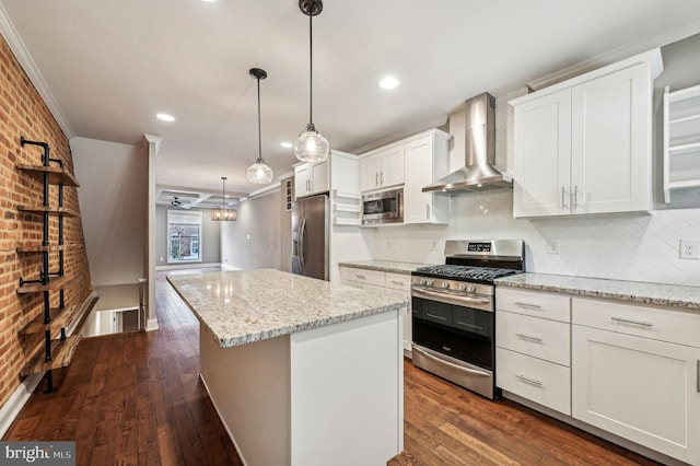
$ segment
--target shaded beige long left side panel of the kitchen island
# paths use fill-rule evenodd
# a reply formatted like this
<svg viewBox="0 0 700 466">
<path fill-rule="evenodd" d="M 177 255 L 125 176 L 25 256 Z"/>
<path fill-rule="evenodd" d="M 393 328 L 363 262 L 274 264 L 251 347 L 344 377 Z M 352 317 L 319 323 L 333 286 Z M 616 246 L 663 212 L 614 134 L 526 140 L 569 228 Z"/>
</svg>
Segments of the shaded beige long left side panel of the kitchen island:
<svg viewBox="0 0 700 466">
<path fill-rule="evenodd" d="M 244 464 L 290 464 L 289 335 L 220 348 L 200 325 L 200 376 Z"/>
</svg>

